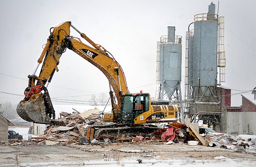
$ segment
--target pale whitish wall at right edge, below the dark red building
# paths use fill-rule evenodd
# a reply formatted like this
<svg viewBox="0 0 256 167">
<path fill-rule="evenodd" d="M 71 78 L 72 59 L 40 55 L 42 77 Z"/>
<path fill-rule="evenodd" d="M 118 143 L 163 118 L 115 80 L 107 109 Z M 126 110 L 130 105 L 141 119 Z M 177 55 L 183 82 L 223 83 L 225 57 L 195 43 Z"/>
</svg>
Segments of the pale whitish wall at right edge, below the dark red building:
<svg viewBox="0 0 256 167">
<path fill-rule="evenodd" d="M 256 112 L 227 112 L 227 134 L 256 135 Z M 249 128 L 248 128 L 249 127 Z"/>
</svg>

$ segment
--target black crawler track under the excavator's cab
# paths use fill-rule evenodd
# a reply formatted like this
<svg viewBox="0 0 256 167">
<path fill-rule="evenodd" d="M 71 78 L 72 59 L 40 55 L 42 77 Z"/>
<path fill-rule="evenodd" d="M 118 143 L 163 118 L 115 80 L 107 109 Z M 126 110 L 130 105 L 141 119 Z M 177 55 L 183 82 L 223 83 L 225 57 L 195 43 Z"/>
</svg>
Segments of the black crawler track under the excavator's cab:
<svg viewBox="0 0 256 167">
<path fill-rule="evenodd" d="M 96 126 L 94 128 L 94 138 L 98 138 L 100 135 L 106 136 L 136 136 L 142 135 L 144 137 L 151 136 L 152 133 L 159 128 L 156 126 Z"/>
</svg>

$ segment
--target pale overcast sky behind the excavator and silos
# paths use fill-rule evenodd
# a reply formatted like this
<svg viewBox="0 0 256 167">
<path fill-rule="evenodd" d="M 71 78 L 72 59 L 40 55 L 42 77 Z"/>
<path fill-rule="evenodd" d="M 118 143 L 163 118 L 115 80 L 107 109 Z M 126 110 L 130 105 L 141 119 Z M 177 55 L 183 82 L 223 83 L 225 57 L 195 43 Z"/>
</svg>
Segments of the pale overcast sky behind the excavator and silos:
<svg viewBox="0 0 256 167">
<path fill-rule="evenodd" d="M 168 26 L 183 37 L 195 14 L 207 13 L 211 0 L 0 0 L 0 101 L 18 104 L 47 42 L 49 29 L 63 21 L 84 32 L 116 58 L 125 72 L 130 92 L 155 96 L 156 51 Z M 225 17 L 226 82 L 222 86 L 250 90 L 256 86 L 256 1 L 213 1 Z M 192 29 L 192 28 L 190 28 Z M 71 35 L 80 35 L 71 30 Z M 84 40 L 83 40 L 84 41 Z M 93 94 L 108 93 L 108 80 L 99 69 L 70 50 L 65 52 L 48 86 L 56 101 L 88 104 Z M 182 85 L 185 82 L 184 66 Z M 40 70 L 38 70 L 39 72 Z M 37 73 L 38 74 L 38 73 Z M 184 94 L 184 86 L 182 86 Z M 106 94 L 108 95 L 108 94 Z M 77 96 L 77 97 L 74 97 Z M 241 95 L 232 95 L 232 106 Z"/>
</svg>

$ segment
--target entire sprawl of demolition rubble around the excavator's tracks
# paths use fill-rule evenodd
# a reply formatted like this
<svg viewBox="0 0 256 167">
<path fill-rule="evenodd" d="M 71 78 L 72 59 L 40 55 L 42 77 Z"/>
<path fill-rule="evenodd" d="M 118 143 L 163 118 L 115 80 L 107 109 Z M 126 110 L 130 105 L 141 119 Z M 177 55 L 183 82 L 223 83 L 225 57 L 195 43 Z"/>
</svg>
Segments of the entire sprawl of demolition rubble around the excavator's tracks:
<svg viewBox="0 0 256 167">
<path fill-rule="evenodd" d="M 140 144 L 189 144 L 219 147 L 225 149 L 237 149 L 240 151 L 256 150 L 256 137 L 234 137 L 220 133 L 218 135 L 199 134 L 195 124 L 190 123 L 190 118 L 185 119 L 185 124 L 172 122 L 165 124 L 151 133 L 151 136 L 135 135 L 99 135 L 93 138 L 93 126 L 108 125 L 102 120 L 99 109 L 94 108 L 80 113 L 76 109 L 75 114 L 61 112 L 55 125 L 50 125 L 44 131 L 44 135 L 31 137 L 29 141 L 12 141 L 9 145 L 76 145 L 76 144 L 114 144 L 114 143 L 140 143 Z M 113 124 L 111 124 L 113 126 Z M 197 126 L 198 127 L 198 126 Z M 105 130 L 105 129 L 104 129 Z M 249 137 L 248 137 L 249 136 Z M 253 136 L 253 135 L 251 135 Z"/>
</svg>

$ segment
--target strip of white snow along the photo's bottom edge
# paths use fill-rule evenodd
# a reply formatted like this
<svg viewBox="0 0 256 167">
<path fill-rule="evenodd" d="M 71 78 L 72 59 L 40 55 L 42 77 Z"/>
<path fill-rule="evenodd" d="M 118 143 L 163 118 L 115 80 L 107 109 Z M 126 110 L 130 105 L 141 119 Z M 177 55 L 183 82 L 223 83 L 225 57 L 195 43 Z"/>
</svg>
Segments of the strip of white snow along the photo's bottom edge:
<svg viewBox="0 0 256 167">
<path fill-rule="evenodd" d="M 69 161 L 69 162 L 47 162 L 47 163 L 32 163 L 20 164 L 22 167 L 255 167 L 256 162 L 251 161 L 233 161 L 227 157 L 215 157 L 214 160 L 145 160 L 141 163 L 138 161 Z"/>
</svg>

